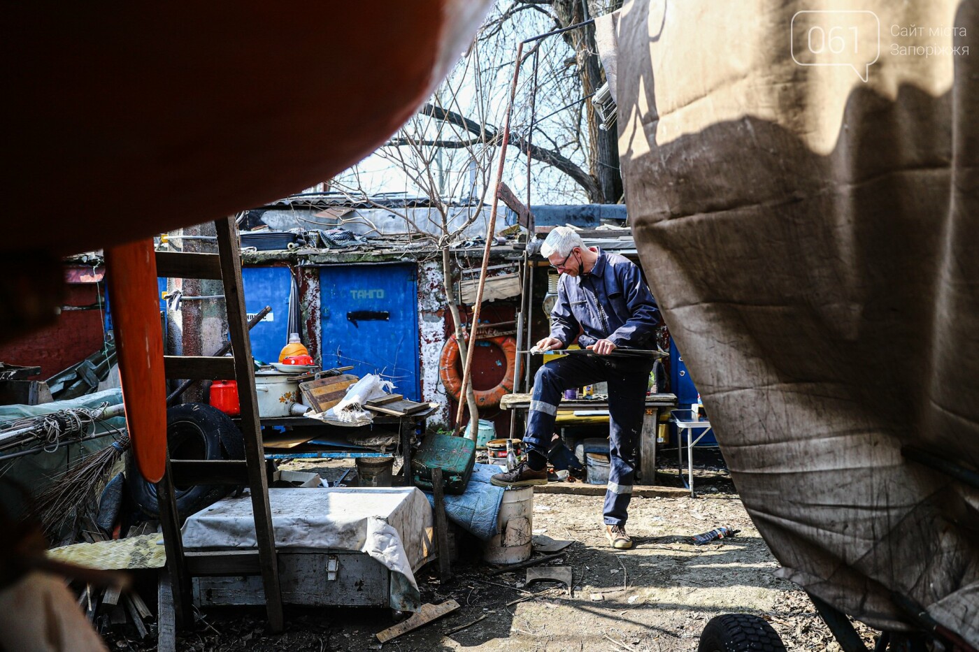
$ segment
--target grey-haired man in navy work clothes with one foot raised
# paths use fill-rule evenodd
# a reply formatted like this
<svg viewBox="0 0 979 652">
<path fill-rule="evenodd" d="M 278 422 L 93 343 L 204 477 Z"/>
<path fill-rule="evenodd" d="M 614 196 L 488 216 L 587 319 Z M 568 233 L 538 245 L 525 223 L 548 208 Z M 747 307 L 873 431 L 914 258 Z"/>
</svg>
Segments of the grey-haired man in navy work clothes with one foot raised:
<svg viewBox="0 0 979 652">
<path fill-rule="evenodd" d="M 629 259 L 597 247 L 587 248 L 574 229 L 558 226 L 540 248 L 541 256 L 561 272 L 557 303 L 551 310 L 550 337 L 536 350 L 578 344 L 594 355 L 565 355 L 544 364 L 534 378 L 527 418 L 527 460 L 492 477 L 497 487 L 547 484 L 547 450 L 564 390 L 608 382 L 609 483 L 605 491 L 605 535 L 616 548 L 632 547 L 626 534 L 632 493 L 635 443 L 642 431 L 646 388 L 653 358 L 610 355 L 615 349 L 655 349 L 659 309 L 639 268 Z M 581 335 L 579 335 L 581 333 Z"/>
</svg>

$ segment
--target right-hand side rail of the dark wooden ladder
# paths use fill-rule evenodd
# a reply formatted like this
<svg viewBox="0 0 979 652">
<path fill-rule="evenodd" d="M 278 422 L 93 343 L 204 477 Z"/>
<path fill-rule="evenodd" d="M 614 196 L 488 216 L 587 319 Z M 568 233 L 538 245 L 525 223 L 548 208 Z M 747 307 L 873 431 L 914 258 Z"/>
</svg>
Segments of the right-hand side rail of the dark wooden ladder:
<svg viewBox="0 0 979 652">
<path fill-rule="evenodd" d="M 255 367 L 252 362 L 252 342 L 245 327 L 245 290 L 242 283 L 241 248 L 238 225 L 234 217 L 214 221 L 217 231 L 217 250 L 221 256 L 221 278 L 224 283 L 224 304 L 228 311 L 228 336 L 235 356 L 238 398 L 241 406 L 239 427 L 245 441 L 248 460 L 249 488 L 252 492 L 252 514 L 261 565 L 262 588 L 265 591 L 265 613 L 268 629 L 282 631 L 282 589 L 279 584 L 279 565 L 276 561 L 275 536 L 272 531 L 272 510 L 268 504 L 268 479 L 265 475 L 265 451 L 261 443 L 261 424 L 255 391 Z"/>
</svg>

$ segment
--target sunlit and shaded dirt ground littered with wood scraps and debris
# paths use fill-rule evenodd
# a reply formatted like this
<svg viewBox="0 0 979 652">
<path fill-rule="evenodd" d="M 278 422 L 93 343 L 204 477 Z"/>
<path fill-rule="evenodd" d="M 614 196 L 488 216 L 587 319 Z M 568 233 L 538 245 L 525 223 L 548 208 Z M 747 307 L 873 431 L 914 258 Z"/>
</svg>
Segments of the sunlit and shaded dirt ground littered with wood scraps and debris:
<svg viewBox="0 0 979 652">
<path fill-rule="evenodd" d="M 334 465 L 319 470 L 339 476 Z M 394 624 L 388 610 L 290 609 L 286 631 L 271 635 L 260 612 L 226 609 L 204 613 L 178 649 L 679 652 L 697 649 L 700 631 L 714 616 L 743 612 L 768 620 L 788 650 L 839 650 L 806 594 L 774 576 L 777 563 L 726 472 L 708 463 L 696 482 L 697 498 L 634 497 L 629 534 L 635 546 L 626 551 L 608 546 L 600 496 L 536 493 L 535 533 L 575 541 L 561 560 L 573 569 L 571 595 L 556 582 L 525 585 L 524 571 L 489 576 L 492 567 L 480 563 L 472 539 L 460 542 L 470 554 L 460 551 L 454 581 L 443 585 L 435 569 L 418 577 L 425 602 L 453 598 L 461 608 L 383 646 L 374 634 Z M 722 525 L 741 532 L 700 546 L 689 539 Z M 872 632 L 859 630 L 872 648 Z M 150 639 L 109 638 L 115 649 L 154 649 Z"/>
</svg>

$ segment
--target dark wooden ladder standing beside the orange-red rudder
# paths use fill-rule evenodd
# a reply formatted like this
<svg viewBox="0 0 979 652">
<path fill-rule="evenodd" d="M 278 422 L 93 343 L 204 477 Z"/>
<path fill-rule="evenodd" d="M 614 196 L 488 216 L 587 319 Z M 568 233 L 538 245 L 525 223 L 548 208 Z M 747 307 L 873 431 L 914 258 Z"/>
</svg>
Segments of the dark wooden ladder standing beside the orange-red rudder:
<svg viewBox="0 0 979 652">
<path fill-rule="evenodd" d="M 163 368 L 168 379 L 237 380 L 241 404 L 240 428 L 245 438 L 245 460 L 167 460 L 166 473 L 157 485 L 157 492 L 163 545 L 166 547 L 166 567 L 172 587 L 173 622 L 171 628 L 164 628 L 165 618 L 163 611 L 161 612 L 161 649 L 164 649 L 164 629 L 180 629 L 190 622 L 191 578 L 195 576 L 260 574 L 265 591 L 268 627 L 272 631 L 283 629 L 282 593 L 279 588 L 272 515 L 268 504 L 268 479 L 261 426 L 258 422 L 255 366 L 245 312 L 238 227 L 234 217 L 215 220 L 214 225 L 217 229 L 217 254 L 158 252 L 157 274 L 167 278 L 199 278 L 223 282 L 233 357 L 164 355 Z M 180 536 L 173 487 L 190 485 L 247 485 L 252 493 L 257 551 L 186 553 Z M 162 588 L 162 593 L 163 590 Z"/>
</svg>

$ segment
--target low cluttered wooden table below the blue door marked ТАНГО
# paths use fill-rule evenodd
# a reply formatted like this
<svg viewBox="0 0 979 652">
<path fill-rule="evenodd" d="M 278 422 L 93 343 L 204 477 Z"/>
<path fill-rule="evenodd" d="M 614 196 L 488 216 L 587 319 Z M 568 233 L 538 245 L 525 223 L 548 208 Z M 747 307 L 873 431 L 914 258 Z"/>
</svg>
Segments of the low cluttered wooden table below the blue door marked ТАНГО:
<svg viewBox="0 0 979 652">
<path fill-rule="evenodd" d="M 384 414 L 375 414 L 372 426 L 382 426 L 390 428 L 392 431 L 396 432 L 398 435 L 398 445 L 397 450 L 400 451 L 401 457 L 401 468 L 407 469 L 404 473 L 404 486 L 411 487 L 411 438 L 415 434 L 415 429 L 418 424 L 424 421 L 426 418 L 431 416 L 438 407 L 432 406 L 420 412 L 415 412 L 414 414 L 407 414 L 404 416 L 389 416 Z M 333 437 L 343 438 L 345 434 L 351 431 L 357 430 L 354 428 L 345 428 L 343 426 L 335 426 L 328 423 L 323 423 L 322 421 L 317 421 L 316 419 L 309 419 L 303 416 L 290 416 L 290 417 L 262 417 L 259 419 L 262 428 L 274 428 L 282 427 L 288 431 L 296 430 L 308 430 L 308 432 L 313 432 L 314 429 L 317 432 L 329 434 Z M 358 446 L 359 447 L 359 446 Z M 377 451 L 367 451 L 367 450 L 303 450 L 303 446 L 300 446 L 300 450 L 292 449 L 265 449 L 265 459 L 266 460 L 283 460 L 283 459 L 351 459 L 357 457 L 393 457 L 398 456 L 397 450 L 395 452 L 377 452 Z"/>
</svg>

